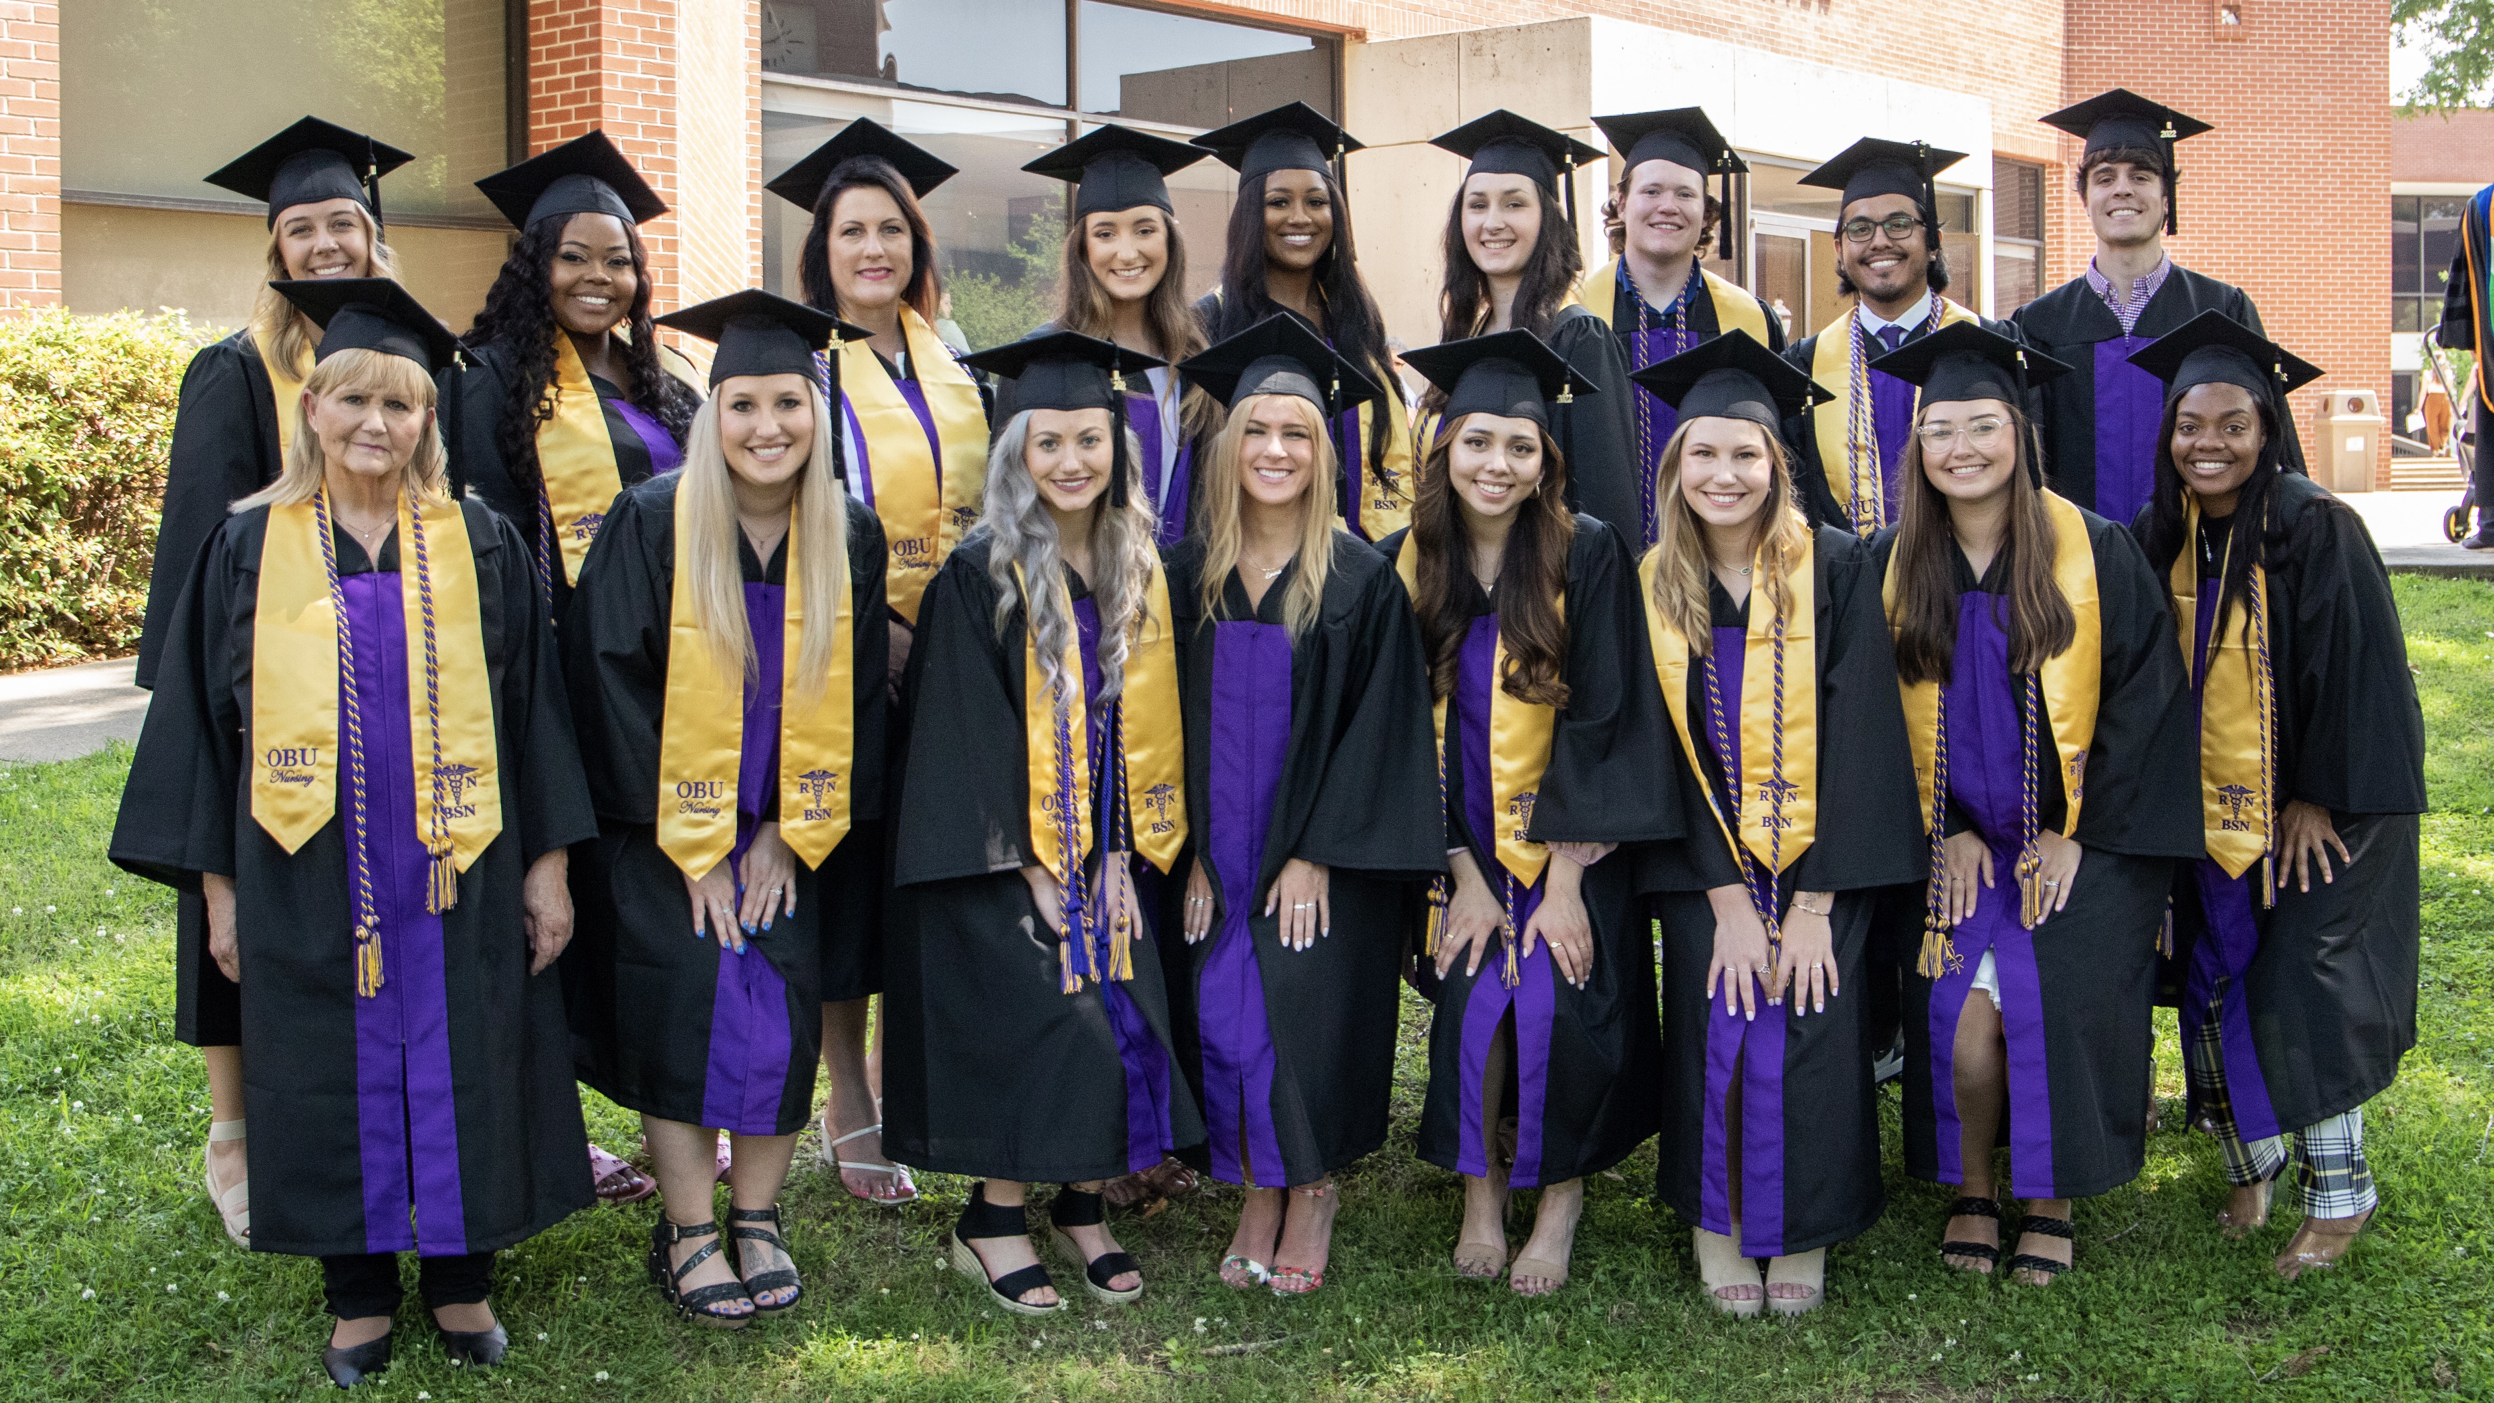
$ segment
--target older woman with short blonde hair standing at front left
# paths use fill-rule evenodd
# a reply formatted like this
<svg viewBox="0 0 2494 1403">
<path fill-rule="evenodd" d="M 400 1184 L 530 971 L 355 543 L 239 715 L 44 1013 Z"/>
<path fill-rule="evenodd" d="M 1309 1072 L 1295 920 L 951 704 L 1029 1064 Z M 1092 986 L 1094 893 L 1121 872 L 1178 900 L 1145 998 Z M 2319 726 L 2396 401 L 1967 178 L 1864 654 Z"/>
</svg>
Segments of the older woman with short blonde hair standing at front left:
<svg viewBox="0 0 2494 1403">
<path fill-rule="evenodd" d="M 519 531 L 454 501 L 389 279 L 289 282 L 324 326 L 287 471 L 192 568 L 112 860 L 202 890 L 244 984 L 252 1248 L 322 1258 L 342 1388 L 384 1368 L 399 1258 L 454 1363 L 499 1363 L 494 1251 L 596 1199 L 556 982 L 596 835 Z"/>
</svg>

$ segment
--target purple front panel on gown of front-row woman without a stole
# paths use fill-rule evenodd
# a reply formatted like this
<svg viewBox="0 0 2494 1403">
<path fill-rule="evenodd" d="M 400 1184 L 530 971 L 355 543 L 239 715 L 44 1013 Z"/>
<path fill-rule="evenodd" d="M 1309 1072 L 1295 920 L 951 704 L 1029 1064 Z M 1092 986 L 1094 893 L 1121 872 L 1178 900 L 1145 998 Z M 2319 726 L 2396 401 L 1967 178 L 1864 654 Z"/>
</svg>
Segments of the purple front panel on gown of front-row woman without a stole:
<svg viewBox="0 0 2494 1403">
<path fill-rule="evenodd" d="M 1289 1179 L 1272 1126 L 1274 1049 L 1264 974 L 1247 922 L 1262 910 L 1264 835 L 1289 755 L 1289 628 L 1279 623 L 1212 625 L 1210 852 L 1222 882 L 1222 925 L 1197 977 L 1205 1124 L 1212 1129 L 1212 1176 L 1247 1184 L 1252 1174 L 1262 1189 Z"/>
</svg>

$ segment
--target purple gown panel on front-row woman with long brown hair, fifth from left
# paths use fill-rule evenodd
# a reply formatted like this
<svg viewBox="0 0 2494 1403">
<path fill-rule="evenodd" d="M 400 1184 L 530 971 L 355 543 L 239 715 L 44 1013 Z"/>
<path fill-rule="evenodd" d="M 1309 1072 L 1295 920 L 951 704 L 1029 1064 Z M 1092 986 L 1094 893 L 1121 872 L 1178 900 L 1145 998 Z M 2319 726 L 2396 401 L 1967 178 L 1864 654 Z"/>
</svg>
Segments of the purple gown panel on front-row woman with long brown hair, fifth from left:
<svg viewBox="0 0 2494 1403">
<path fill-rule="evenodd" d="M 1474 835 L 1474 857 L 1484 865 L 1489 890 L 1506 905 L 1514 927 L 1506 939 L 1519 939 L 1541 907 L 1546 877 L 1516 890 L 1516 880 L 1499 865 L 1494 822 L 1494 797 L 1489 787 L 1489 708 L 1496 688 L 1499 616 L 1484 613 L 1471 621 L 1464 635 L 1461 660 L 1454 678 L 1454 728 L 1464 765 L 1464 825 Z M 1456 1169 L 1464 1174 L 1489 1174 L 1489 1139 L 1481 1126 L 1481 1079 L 1489 1069 L 1489 1044 L 1499 1034 L 1499 1022 L 1509 1009 L 1516 1014 L 1516 1164 L 1509 1184 L 1531 1189 L 1541 1184 L 1541 1116 L 1549 1104 L 1551 1079 L 1551 1012 L 1556 1007 L 1556 979 L 1549 944 L 1519 962 L 1516 987 L 1499 977 L 1506 952 L 1491 944 L 1481 957 L 1481 974 L 1464 994 L 1464 1109 Z"/>
</svg>

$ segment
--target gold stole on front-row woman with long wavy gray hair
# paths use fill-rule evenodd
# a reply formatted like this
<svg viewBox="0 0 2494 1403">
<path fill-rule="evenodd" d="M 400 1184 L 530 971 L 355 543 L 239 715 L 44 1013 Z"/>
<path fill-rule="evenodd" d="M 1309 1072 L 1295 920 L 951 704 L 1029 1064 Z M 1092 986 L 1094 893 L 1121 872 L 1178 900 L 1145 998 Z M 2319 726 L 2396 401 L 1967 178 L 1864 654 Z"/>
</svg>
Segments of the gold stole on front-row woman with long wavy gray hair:
<svg viewBox="0 0 2494 1403">
<path fill-rule="evenodd" d="M 1040 640 L 1030 625 L 1030 581 L 1023 568 L 1013 568 L 1013 581 L 1023 591 L 1023 735 L 1028 750 L 1028 805 L 1030 805 L 1030 855 L 1067 892 L 1082 877 L 1082 855 L 1092 847 L 1092 773 L 1090 773 L 1090 698 L 1082 690 L 1082 638 L 1065 645 L 1065 710 L 1057 715 L 1055 698 L 1047 695 L 1047 673 L 1040 670 Z M 1065 618 L 1072 621 L 1072 598 L 1062 581 L 1055 583 L 1067 598 Z M 1107 621 L 1102 621 L 1102 628 Z M 1152 573 L 1142 588 L 1142 618 L 1132 625 L 1135 640 L 1125 655 L 1125 690 L 1117 695 L 1117 745 L 1107 760 L 1125 778 L 1127 822 L 1132 825 L 1135 852 L 1142 852 L 1162 872 L 1177 862 L 1177 850 L 1187 842 L 1187 743 L 1177 708 L 1177 633 L 1170 623 L 1170 581 L 1152 561 Z M 1060 748 L 1062 740 L 1062 748 Z M 1067 812 L 1070 810 L 1070 812 Z M 1087 905 L 1087 902 L 1085 902 Z M 1095 979 L 1132 979 L 1132 930 L 1120 922 L 1110 932 L 1110 964 L 1092 969 Z M 1057 937 L 1057 959 L 1065 969 L 1067 994 L 1082 987 L 1072 949 L 1072 922 Z"/>
</svg>

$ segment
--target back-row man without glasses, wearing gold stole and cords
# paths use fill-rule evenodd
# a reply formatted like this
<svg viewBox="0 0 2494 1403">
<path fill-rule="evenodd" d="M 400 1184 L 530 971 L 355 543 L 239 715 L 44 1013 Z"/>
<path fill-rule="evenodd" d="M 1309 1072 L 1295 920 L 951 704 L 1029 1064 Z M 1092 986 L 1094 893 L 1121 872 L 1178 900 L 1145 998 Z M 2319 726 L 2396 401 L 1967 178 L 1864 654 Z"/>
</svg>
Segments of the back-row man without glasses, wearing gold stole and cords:
<svg viewBox="0 0 2494 1403">
<path fill-rule="evenodd" d="M 1733 155 L 1731 142 L 1706 120 L 1706 110 L 1594 117 L 1594 125 L 1621 155 L 1624 169 L 1611 204 L 1619 209 L 1626 247 L 1586 274 L 1579 297 L 1586 312 L 1611 324 L 1629 369 L 1668 361 L 1731 329 L 1748 331 L 1771 351 L 1783 351 L 1783 324 L 1766 302 L 1698 267 L 1718 227 L 1723 239 L 1731 239 L 1731 177 L 1748 174 L 1748 162 Z M 1706 192 L 1713 177 L 1723 182 L 1721 197 Z M 1644 541 L 1629 546 L 1644 553 L 1654 546 L 1659 523 L 1654 468 L 1681 416 L 1644 386 L 1629 394 L 1636 399 L 1634 451 L 1644 468 L 1639 478 Z"/>
</svg>

